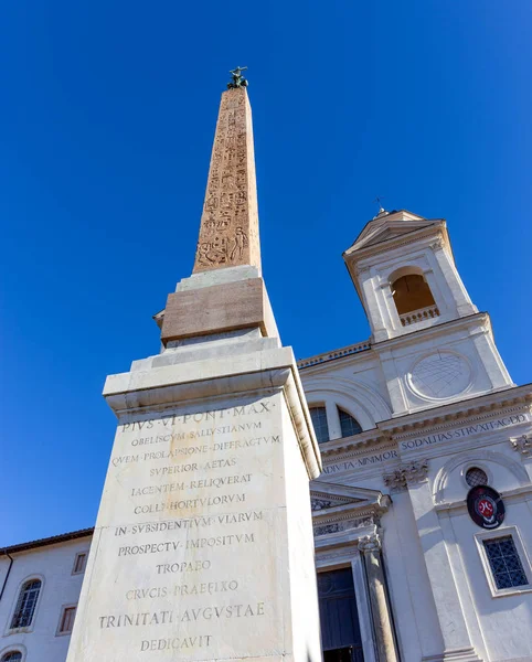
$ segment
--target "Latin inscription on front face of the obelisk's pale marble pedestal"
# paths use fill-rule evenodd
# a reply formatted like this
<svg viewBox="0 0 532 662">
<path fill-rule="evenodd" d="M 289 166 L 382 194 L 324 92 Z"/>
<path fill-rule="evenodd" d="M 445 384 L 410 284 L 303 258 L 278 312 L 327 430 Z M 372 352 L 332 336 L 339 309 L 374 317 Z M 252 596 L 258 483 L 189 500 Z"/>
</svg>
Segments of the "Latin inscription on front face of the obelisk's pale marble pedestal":
<svg viewBox="0 0 532 662">
<path fill-rule="evenodd" d="M 127 639 L 131 660 L 244 656 L 252 639 L 255 654 L 274 652 L 281 406 L 274 396 L 118 427 L 115 498 L 104 495 L 95 541 L 108 598 L 84 616 L 98 641 Z"/>
</svg>

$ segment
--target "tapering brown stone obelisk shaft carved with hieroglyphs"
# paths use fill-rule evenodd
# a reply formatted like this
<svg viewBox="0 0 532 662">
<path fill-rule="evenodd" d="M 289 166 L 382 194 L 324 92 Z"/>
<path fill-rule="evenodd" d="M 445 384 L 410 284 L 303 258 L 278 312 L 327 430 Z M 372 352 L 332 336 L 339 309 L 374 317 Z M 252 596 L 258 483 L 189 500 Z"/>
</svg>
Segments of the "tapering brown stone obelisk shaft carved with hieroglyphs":
<svg viewBox="0 0 532 662">
<path fill-rule="evenodd" d="M 222 95 L 194 271 L 260 267 L 251 108 L 246 90 Z"/>
</svg>

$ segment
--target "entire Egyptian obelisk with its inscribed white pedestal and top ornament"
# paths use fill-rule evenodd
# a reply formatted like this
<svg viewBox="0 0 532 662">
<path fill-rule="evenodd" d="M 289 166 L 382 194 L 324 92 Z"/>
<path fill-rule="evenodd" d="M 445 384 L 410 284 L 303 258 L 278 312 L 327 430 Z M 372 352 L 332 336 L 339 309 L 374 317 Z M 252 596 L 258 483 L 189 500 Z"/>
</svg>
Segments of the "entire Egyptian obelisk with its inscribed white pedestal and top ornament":
<svg viewBox="0 0 532 662">
<path fill-rule="evenodd" d="M 320 457 L 260 277 L 251 108 L 222 95 L 193 274 L 118 418 L 67 662 L 319 662 Z"/>
</svg>

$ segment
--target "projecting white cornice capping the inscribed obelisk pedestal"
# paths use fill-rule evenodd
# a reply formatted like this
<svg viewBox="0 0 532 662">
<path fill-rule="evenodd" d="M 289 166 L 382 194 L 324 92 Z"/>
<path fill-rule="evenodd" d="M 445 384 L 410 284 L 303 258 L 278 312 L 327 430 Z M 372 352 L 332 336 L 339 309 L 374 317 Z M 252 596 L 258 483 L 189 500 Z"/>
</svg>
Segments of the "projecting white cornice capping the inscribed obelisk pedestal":
<svg viewBox="0 0 532 662">
<path fill-rule="evenodd" d="M 291 348 L 210 356 L 109 375 L 104 397 L 121 420 L 163 413 L 177 404 L 196 404 L 203 398 L 215 404 L 232 395 L 278 389 L 285 395 L 309 479 L 317 478 L 321 472 L 321 456 Z"/>
</svg>

